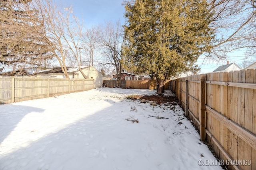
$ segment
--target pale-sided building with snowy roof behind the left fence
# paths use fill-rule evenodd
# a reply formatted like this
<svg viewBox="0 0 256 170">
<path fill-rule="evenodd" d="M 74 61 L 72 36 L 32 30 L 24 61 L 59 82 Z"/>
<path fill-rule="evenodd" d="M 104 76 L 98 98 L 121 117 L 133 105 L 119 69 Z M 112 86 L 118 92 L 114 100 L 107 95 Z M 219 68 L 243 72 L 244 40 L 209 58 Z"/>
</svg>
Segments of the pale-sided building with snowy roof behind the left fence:
<svg viewBox="0 0 256 170">
<path fill-rule="evenodd" d="M 68 76 L 70 79 L 84 79 L 84 76 L 80 72 L 78 67 L 67 67 Z M 94 84 L 96 88 L 102 86 L 102 74 L 94 66 L 81 66 L 82 72 L 86 75 L 86 78 L 94 79 Z M 61 67 L 50 68 L 47 70 L 42 70 L 35 72 L 30 76 L 35 77 L 52 77 L 52 78 L 65 78 L 65 75 Z"/>
</svg>

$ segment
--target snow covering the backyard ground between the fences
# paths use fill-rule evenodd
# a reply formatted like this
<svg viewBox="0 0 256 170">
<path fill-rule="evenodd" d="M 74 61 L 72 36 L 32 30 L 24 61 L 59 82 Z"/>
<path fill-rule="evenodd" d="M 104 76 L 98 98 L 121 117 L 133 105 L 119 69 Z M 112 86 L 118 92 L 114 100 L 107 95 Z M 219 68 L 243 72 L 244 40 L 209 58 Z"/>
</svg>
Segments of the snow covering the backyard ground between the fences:
<svg viewBox="0 0 256 170">
<path fill-rule="evenodd" d="M 180 106 L 126 98 L 155 93 L 99 88 L 0 105 L 0 169 L 220 170 L 198 165 L 216 158 Z"/>
</svg>

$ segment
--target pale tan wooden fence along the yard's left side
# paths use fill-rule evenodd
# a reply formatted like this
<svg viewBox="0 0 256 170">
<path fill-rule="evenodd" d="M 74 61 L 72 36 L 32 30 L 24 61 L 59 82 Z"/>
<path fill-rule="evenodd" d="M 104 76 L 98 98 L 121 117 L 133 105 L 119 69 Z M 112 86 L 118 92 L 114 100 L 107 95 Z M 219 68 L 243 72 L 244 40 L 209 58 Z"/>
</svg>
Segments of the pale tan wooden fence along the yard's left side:
<svg viewBox="0 0 256 170">
<path fill-rule="evenodd" d="M 94 80 L 0 76 L 0 104 L 47 98 L 94 88 Z"/>
</svg>

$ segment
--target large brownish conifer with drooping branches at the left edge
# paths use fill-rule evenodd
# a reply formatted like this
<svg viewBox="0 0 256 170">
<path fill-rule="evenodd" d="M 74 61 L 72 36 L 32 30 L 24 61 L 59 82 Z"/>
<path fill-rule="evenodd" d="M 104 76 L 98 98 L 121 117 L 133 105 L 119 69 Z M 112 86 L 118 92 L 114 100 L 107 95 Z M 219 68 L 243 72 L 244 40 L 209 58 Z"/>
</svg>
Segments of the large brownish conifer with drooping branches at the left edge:
<svg viewBox="0 0 256 170">
<path fill-rule="evenodd" d="M 51 57 L 49 46 L 36 31 L 43 24 L 30 8 L 31 1 L 0 1 L 0 63 L 13 69 L 45 67 Z"/>
</svg>

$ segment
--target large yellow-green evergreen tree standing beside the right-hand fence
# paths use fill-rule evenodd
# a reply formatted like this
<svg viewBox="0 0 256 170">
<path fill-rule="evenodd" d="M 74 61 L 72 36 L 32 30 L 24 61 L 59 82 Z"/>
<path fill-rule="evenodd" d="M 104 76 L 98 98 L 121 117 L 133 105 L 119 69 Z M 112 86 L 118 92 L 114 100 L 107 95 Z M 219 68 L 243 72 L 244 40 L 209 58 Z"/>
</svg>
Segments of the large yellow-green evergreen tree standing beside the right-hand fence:
<svg viewBox="0 0 256 170">
<path fill-rule="evenodd" d="M 158 94 L 170 76 L 198 70 L 196 61 L 214 38 L 206 0 L 134 0 L 125 9 L 124 66 L 149 71 Z"/>
</svg>

